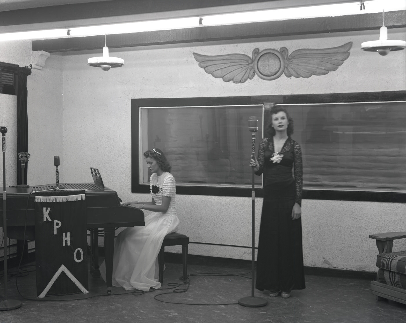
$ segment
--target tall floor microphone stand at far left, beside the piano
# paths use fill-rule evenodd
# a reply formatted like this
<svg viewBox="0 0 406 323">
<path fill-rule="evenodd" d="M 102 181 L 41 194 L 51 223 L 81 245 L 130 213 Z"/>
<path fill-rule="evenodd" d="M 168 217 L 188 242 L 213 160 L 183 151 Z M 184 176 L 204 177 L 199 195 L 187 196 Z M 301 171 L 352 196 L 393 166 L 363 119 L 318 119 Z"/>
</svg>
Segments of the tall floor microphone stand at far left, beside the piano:
<svg viewBox="0 0 406 323">
<path fill-rule="evenodd" d="M 6 132 L 7 127 L 1 127 L 3 149 L 3 240 L 4 240 L 4 299 L 0 300 L 0 310 L 15 310 L 21 307 L 21 302 L 7 299 L 7 214 L 6 214 Z"/>
</svg>

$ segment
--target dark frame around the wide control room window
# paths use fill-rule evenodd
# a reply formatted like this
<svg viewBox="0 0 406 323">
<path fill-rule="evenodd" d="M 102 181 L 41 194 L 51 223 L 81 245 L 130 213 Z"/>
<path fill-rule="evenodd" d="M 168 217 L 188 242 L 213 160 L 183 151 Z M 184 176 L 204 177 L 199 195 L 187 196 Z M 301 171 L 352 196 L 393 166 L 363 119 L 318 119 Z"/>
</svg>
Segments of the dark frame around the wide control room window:
<svg viewBox="0 0 406 323">
<path fill-rule="evenodd" d="M 264 104 L 264 103 L 334 103 L 334 102 L 363 102 L 363 101 L 400 101 L 406 98 L 406 91 L 365 92 L 365 93 L 330 93 L 314 95 L 264 95 L 247 97 L 191 97 L 191 98 L 152 98 L 132 99 L 132 193 L 149 193 L 149 185 L 139 185 L 139 155 L 138 155 L 138 124 L 139 108 L 168 107 L 168 106 L 209 106 L 234 104 Z M 176 187 L 177 194 L 209 195 L 209 196 L 240 196 L 251 197 L 251 187 L 216 187 L 216 186 L 180 186 Z M 263 197 L 263 189 L 255 189 L 256 197 Z M 352 190 L 304 189 L 304 199 L 315 200 L 347 200 L 373 202 L 406 202 L 406 193 L 402 192 L 366 192 Z"/>
</svg>

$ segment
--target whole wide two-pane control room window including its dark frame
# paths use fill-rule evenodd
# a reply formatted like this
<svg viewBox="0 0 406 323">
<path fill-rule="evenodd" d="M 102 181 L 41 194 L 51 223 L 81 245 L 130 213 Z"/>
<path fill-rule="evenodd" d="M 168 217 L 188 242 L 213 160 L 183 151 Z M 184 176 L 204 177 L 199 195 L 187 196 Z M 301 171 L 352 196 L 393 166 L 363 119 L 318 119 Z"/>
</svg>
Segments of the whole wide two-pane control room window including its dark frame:
<svg viewBox="0 0 406 323">
<path fill-rule="evenodd" d="M 403 92 L 133 99 L 132 192 L 149 192 L 143 152 L 160 148 L 177 194 L 251 196 L 248 118 L 259 119 L 257 153 L 274 105 L 294 119 L 304 199 L 406 201 Z M 254 184 L 262 197 L 262 177 Z"/>
</svg>

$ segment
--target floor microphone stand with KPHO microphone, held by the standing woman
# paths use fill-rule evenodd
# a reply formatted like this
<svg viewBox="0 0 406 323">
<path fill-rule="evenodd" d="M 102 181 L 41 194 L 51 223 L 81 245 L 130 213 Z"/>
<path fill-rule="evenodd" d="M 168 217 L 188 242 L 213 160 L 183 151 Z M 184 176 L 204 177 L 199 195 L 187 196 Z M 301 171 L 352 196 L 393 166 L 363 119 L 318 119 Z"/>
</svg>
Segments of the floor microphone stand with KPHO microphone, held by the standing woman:
<svg viewBox="0 0 406 323">
<path fill-rule="evenodd" d="M 249 130 L 252 132 L 252 155 L 255 158 L 255 131 L 258 130 L 258 118 L 251 116 L 248 119 L 255 121 L 255 126 L 249 125 Z M 238 304 L 246 307 L 261 307 L 268 304 L 268 301 L 262 297 L 255 296 L 255 170 L 252 168 L 252 193 L 251 193 L 251 296 L 246 296 L 238 300 Z"/>
</svg>

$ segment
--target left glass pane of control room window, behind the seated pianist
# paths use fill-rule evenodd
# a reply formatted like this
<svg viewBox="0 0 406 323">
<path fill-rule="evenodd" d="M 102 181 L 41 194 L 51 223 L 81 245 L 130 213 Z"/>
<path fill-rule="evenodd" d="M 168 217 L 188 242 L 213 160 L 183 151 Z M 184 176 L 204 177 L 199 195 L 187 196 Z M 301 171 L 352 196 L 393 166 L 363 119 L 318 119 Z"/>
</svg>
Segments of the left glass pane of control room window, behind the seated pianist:
<svg viewBox="0 0 406 323">
<path fill-rule="evenodd" d="M 252 185 L 248 118 L 262 120 L 262 110 L 262 105 L 140 108 L 140 184 L 149 183 L 151 176 L 143 152 L 159 148 L 177 185 Z M 262 136 L 261 125 L 257 134 Z"/>
</svg>

